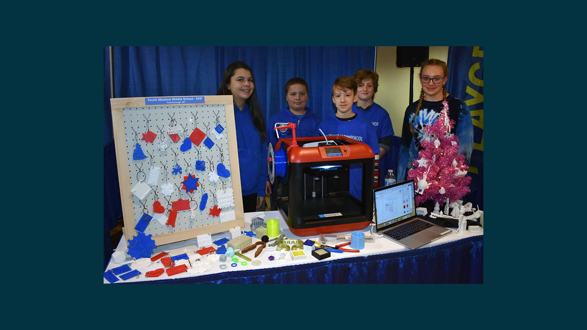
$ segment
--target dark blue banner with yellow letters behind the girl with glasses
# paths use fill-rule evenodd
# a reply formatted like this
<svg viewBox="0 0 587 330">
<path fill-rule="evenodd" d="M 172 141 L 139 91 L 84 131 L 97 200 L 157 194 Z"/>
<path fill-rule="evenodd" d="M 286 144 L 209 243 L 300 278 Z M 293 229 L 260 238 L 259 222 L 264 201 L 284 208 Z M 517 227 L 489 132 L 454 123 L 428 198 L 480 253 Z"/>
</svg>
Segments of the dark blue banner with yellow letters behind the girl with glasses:
<svg viewBox="0 0 587 330">
<path fill-rule="evenodd" d="M 467 103 L 473 118 L 471 192 L 463 198 L 483 210 L 483 46 L 448 48 L 447 92 Z"/>
</svg>

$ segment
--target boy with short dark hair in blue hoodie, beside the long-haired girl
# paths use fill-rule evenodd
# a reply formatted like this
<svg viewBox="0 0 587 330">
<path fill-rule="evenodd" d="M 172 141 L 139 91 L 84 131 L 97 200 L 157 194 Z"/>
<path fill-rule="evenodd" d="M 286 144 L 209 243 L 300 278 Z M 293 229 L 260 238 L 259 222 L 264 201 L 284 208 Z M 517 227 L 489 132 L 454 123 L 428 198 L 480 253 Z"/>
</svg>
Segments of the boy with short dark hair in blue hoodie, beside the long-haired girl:
<svg viewBox="0 0 587 330">
<path fill-rule="evenodd" d="M 288 101 L 288 106 L 283 107 L 281 112 L 273 115 L 267 122 L 267 141 L 272 144 L 274 150 L 278 141 L 275 131 L 279 133 L 279 139 L 292 137 L 291 129 L 275 130 L 275 123 L 295 123 L 296 137 L 321 136 L 318 132 L 320 119 L 306 106 L 308 104 L 308 83 L 302 78 L 289 79 L 285 84 L 285 99 Z M 265 191 L 265 194 L 269 193 L 271 197 L 271 210 L 277 210 L 276 195 L 272 193 L 271 186 L 268 187 L 269 191 Z"/>
</svg>

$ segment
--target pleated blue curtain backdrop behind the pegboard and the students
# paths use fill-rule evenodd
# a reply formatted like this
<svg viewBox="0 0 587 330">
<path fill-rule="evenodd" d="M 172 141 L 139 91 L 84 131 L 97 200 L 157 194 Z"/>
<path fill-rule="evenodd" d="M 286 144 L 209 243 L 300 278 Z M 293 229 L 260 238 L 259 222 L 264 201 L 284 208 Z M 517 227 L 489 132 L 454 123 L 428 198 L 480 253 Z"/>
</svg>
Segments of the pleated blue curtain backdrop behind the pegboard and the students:
<svg viewBox="0 0 587 330">
<path fill-rule="evenodd" d="M 265 120 L 287 105 L 284 86 L 294 77 L 308 82 L 308 106 L 326 117 L 335 112 L 334 80 L 374 69 L 375 47 L 114 47 L 114 95 L 215 95 L 236 60 L 253 70 Z"/>
</svg>

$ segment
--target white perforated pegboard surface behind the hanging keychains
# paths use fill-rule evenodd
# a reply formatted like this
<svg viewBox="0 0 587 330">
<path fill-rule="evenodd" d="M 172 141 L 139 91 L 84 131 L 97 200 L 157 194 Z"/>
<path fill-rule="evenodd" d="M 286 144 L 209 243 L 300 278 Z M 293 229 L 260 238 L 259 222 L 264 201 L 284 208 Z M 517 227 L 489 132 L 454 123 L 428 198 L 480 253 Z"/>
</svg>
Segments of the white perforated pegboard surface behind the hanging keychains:
<svg viewBox="0 0 587 330">
<path fill-rule="evenodd" d="M 232 110 L 232 109 L 230 109 Z M 218 115 L 218 116 L 217 116 Z M 180 127 L 181 131 L 187 130 L 185 133 L 179 133 L 180 140 L 177 143 L 173 143 L 169 135 L 167 134 L 167 128 L 172 126 L 174 123 L 171 122 L 171 117 L 177 122 L 176 127 Z M 218 117 L 218 118 L 217 118 Z M 147 127 L 147 119 L 149 119 L 149 127 Z M 194 190 L 193 199 L 197 202 L 197 211 L 196 216 L 194 219 L 190 217 L 191 211 L 178 211 L 176 225 L 175 227 L 171 227 L 170 225 L 161 225 L 156 220 L 151 220 L 149 226 L 144 231 L 145 234 L 153 234 L 153 236 L 167 234 L 167 233 L 175 233 L 181 230 L 187 230 L 190 228 L 197 228 L 203 227 L 205 225 L 216 224 L 220 223 L 220 218 L 213 217 L 209 215 L 210 208 L 214 207 L 214 198 L 212 193 L 216 194 L 217 190 L 222 190 L 222 181 L 218 180 L 217 183 L 212 183 L 208 180 L 208 173 L 210 173 L 210 160 L 214 163 L 214 171 L 216 172 L 217 165 L 222 163 L 226 167 L 227 170 L 230 171 L 231 176 L 227 178 L 220 178 L 224 180 L 224 189 L 232 188 L 232 174 L 233 171 L 230 167 L 230 159 L 228 153 L 228 140 L 227 140 L 227 123 L 225 117 L 225 109 L 224 105 L 189 105 L 189 106 L 158 106 L 158 107 L 135 107 L 135 108 L 124 108 L 123 109 L 123 119 L 124 119 L 124 134 L 126 140 L 126 153 L 127 159 L 129 161 L 129 177 L 130 177 L 130 186 L 134 187 L 137 182 L 143 180 L 144 183 L 148 183 L 149 181 L 149 174 L 151 171 L 151 167 L 160 167 L 161 174 L 159 176 L 159 180 L 156 185 L 150 185 L 153 189 L 157 189 L 157 197 L 158 201 L 161 203 L 161 206 L 167 206 L 166 198 L 171 202 L 177 201 L 179 198 L 190 200 L 190 195 L 186 193 L 185 190 L 178 191 L 177 187 L 182 187 L 181 181 L 184 181 L 184 176 L 187 176 L 185 169 L 187 168 L 190 171 L 190 174 L 195 174 L 195 177 L 198 178 L 198 183 L 200 183 L 200 187 L 197 187 L 197 190 Z M 218 122 L 217 122 L 218 120 Z M 222 132 L 222 137 L 217 139 L 212 131 L 214 131 L 217 124 L 220 124 L 224 127 L 224 131 Z M 208 130 L 206 128 L 208 126 Z M 204 141 L 200 143 L 200 146 L 196 146 L 194 143 L 191 143 L 191 148 L 187 151 L 180 151 L 180 146 L 184 142 L 185 137 L 189 137 L 193 130 L 197 127 L 198 129 L 202 130 L 204 133 L 207 133 L 207 137 L 209 137 L 212 142 L 214 142 L 214 146 L 212 149 L 208 149 L 207 146 L 204 145 Z M 143 150 L 146 159 L 143 160 L 133 160 L 133 152 L 136 146 L 135 142 L 135 132 L 137 131 L 137 140 Z M 153 143 L 147 143 L 144 140 L 141 140 L 143 137 L 143 133 L 147 133 L 147 129 L 151 132 L 156 133 L 157 137 L 155 138 Z M 163 134 L 161 134 L 163 133 Z M 163 136 L 163 142 L 168 144 L 166 150 L 161 150 L 159 144 L 161 143 L 161 137 Z M 204 140 L 206 138 L 204 137 Z M 222 156 L 224 157 L 223 161 L 221 161 L 221 154 L 220 149 L 222 149 Z M 205 171 L 196 171 L 195 170 L 195 161 L 198 160 L 198 151 L 200 150 L 200 160 L 205 161 Z M 181 174 L 173 174 L 173 167 L 176 165 L 176 156 L 174 154 L 177 153 L 177 164 L 181 167 Z M 151 156 L 153 159 L 151 159 Z M 187 164 L 189 166 L 187 166 Z M 166 175 L 166 171 L 164 171 L 164 167 L 161 164 L 166 164 L 167 167 L 167 182 L 173 184 L 173 194 L 171 196 L 165 196 L 161 192 L 161 186 L 164 184 Z M 137 166 L 141 167 L 141 170 L 144 172 L 139 174 L 139 169 Z M 238 169 L 237 169 L 238 170 Z M 139 176 L 137 179 L 137 175 Z M 204 190 L 202 190 L 204 188 Z M 206 207 L 203 211 L 200 211 L 200 201 L 201 196 L 204 193 L 208 193 L 208 200 L 206 203 Z M 143 215 L 143 205 L 149 209 L 149 215 L 153 216 L 153 203 L 156 201 L 155 193 L 153 190 L 149 192 L 147 197 L 143 200 L 140 200 L 138 197 L 132 196 L 133 199 L 133 209 L 134 209 L 134 223 L 138 223 L 141 216 Z M 194 203 L 190 203 L 192 206 Z M 222 213 L 226 211 L 234 211 L 234 206 L 232 207 L 225 207 L 222 208 Z M 166 212 L 167 213 L 167 210 Z M 126 222 L 126 220 L 125 220 Z"/>
</svg>

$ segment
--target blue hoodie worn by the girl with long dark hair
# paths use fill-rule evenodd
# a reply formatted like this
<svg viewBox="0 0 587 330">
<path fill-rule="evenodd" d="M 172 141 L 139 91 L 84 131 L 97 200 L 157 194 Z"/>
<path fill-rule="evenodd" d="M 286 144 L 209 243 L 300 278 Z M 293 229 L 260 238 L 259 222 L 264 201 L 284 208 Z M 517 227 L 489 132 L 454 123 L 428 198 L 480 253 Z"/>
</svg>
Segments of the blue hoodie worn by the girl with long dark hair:
<svg viewBox="0 0 587 330">
<path fill-rule="evenodd" d="M 242 112 L 234 105 L 234 121 L 242 195 L 257 193 L 257 197 L 265 197 L 267 142 L 261 143 L 261 133 L 253 123 L 248 104 L 245 104 Z"/>
</svg>

